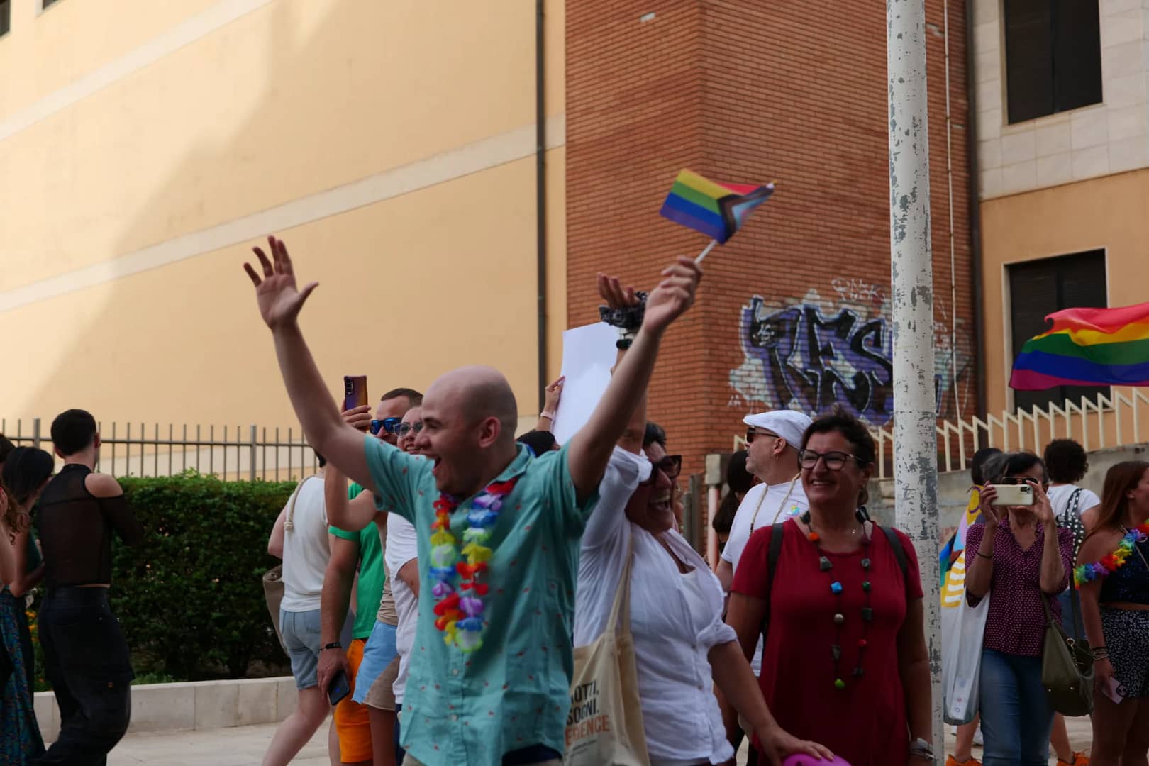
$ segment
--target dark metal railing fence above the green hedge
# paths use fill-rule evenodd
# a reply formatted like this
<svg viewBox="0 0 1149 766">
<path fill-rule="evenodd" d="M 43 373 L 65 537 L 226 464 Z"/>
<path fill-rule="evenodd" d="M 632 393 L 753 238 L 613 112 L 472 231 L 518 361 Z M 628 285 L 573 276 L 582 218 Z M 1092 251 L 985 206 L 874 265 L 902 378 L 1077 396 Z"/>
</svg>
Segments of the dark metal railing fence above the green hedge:
<svg viewBox="0 0 1149 766">
<path fill-rule="evenodd" d="M 167 477 L 194 470 L 228 479 L 290 480 L 318 469 L 318 461 L 298 428 L 260 426 L 188 426 L 168 424 L 97 424 L 98 470 L 115 477 Z M 0 420 L 17 447 L 52 449 L 40 418 Z"/>
</svg>

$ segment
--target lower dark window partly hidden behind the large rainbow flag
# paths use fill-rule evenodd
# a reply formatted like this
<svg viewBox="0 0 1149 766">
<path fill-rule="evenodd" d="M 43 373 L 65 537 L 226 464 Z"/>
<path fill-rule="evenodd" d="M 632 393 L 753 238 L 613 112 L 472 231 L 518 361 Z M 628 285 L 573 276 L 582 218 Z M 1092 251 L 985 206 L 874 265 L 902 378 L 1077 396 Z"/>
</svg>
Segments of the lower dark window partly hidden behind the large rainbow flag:
<svg viewBox="0 0 1149 766">
<path fill-rule="evenodd" d="M 1046 317 L 1062 309 L 1105 308 L 1105 252 L 1090 250 L 1056 258 L 1015 263 L 1009 266 L 1010 320 L 1013 356 L 1025 341 L 1049 330 Z M 1080 404 L 1081 397 L 1109 396 L 1109 386 L 1058 386 L 1046 390 L 1016 390 L 1018 409 L 1062 407 L 1066 399 Z"/>
</svg>

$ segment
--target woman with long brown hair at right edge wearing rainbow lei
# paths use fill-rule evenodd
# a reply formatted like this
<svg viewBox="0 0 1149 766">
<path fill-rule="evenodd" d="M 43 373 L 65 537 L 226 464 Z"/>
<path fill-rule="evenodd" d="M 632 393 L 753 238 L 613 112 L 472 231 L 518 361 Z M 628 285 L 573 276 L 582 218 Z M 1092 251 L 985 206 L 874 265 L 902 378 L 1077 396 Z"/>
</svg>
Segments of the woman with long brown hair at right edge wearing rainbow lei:
<svg viewBox="0 0 1149 766">
<path fill-rule="evenodd" d="M 1105 473 L 1101 505 L 1073 572 L 1094 651 L 1093 766 L 1149 753 L 1149 463 Z"/>
</svg>

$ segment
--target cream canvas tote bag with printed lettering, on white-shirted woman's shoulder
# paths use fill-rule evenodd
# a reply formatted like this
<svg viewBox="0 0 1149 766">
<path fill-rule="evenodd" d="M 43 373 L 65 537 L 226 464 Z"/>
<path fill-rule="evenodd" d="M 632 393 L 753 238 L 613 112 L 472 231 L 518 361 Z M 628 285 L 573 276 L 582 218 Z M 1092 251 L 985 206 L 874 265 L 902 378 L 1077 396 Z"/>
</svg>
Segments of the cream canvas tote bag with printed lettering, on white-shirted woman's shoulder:
<svg viewBox="0 0 1149 766">
<path fill-rule="evenodd" d="M 564 766 L 647 766 L 650 763 L 631 636 L 633 560 L 632 533 L 607 628 L 593 642 L 574 648 Z"/>
</svg>

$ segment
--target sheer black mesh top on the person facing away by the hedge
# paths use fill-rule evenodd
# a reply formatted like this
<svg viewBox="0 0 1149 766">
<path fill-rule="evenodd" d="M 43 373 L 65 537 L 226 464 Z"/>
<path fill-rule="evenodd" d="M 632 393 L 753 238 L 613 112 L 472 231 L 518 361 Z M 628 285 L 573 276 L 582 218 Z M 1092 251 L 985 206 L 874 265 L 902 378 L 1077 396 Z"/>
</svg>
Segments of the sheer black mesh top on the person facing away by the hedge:
<svg viewBox="0 0 1149 766">
<path fill-rule="evenodd" d="M 65 465 L 40 495 L 36 526 L 44 549 L 44 583 L 64 586 L 111 583 L 111 533 L 129 546 L 144 539 L 123 495 L 95 497 L 84 480 L 86 465 Z"/>
</svg>

